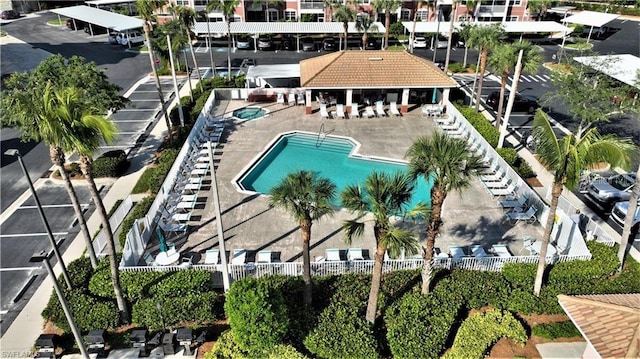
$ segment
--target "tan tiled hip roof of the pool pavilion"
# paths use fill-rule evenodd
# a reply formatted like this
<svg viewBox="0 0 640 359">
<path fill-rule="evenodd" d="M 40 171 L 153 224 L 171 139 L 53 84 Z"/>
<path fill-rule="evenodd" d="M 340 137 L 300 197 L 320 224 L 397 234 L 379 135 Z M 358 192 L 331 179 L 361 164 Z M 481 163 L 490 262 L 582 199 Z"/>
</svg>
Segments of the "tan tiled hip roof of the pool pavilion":
<svg viewBox="0 0 640 359">
<path fill-rule="evenodd" d="M 300 61 L 307 88 L 443 88 L 457 83 L 431 61 L 406 51 L 339 51 Z"/>
</svg>

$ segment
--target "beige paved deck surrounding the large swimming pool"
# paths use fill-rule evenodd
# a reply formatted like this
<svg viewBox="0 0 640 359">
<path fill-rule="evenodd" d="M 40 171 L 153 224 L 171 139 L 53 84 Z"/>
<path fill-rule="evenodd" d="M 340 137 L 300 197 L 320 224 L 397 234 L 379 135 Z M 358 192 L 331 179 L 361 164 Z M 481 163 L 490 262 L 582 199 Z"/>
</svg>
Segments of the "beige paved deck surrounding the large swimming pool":
<svg viewBox="0 0 640 359">
<path fill-rule="evenodd" d="M 230 117 L 233 110 L 247 105 L 254 104 L 218 101 L 215 115 Z M 270 208 L 267 197 L 240 193 L 232 183 L 233 178 L 251 164 L 278 134 L 295 130 L 317 133 L 324 124 L 326 133 L 348 136 L 358 141 L 361 144 L 360 154 L 404 159 L 414 139 L 438 131 L 431 119 L 420 116 L 420 108 L 402 117 L 321 120 L 317 111 L 305 115 L 303 106 L 275 103 L 256 105 L 269 109 L 269 116 L 245 122 L 228 122 L 216 150 L 216 159 L 220 161 L 216 174 L 226 250 L 229 253 L 234 249 L 246 249 L 248 262 L 254 261 L 255 253 L 259 250 L 270 250 L 275 253 L 274 258 L 278 257 L 283 262 L 302 260 L 297 223 L 285 212 Z M 210 183 L 209 176 L 205 178 L 205 183 Z M 173 239 L 178 251 L 183 255 L 189 253 L 194 264 L 203 263 L 207 249 L 218 247 L 210 186 L 203 187 L 198 195 L 200 206 L 192 211 L 188 236 Z M 449 194 L 442 217 L 444 223 L 436 239 L 436 247 L 443 252 L 447 252 L 447 247 L 452 245 L 481 244 L 488 250 L 492 244 L 500 243 L 508 245 L 511 253 L 518 255 L 522 249 L 522 238 L 540 238 L 543 232 L 537 223 L 509 224 L 496 200 L 487 194 L 477 179 L 461 195 L 455 192 Z M 367 226 L 363 238 L 354 240 L 351 245 L 345 243 L 341 223 L 351 218 L 354 218 L 353 214 L 340 210 L 332 217 L 313 224 L 312 260 L 324 256 L 327 248 L 346 250 L 357 247 L 363 249 L 365 258 L 367 255 L 372 257 L 375 240 L 371 226 Z M 424 242 L 424 226 L 418 228 L 419 239 Z M 157 239 L 153 239 L 147 250 L 156 254 L 157 246 Z"/>
</svg>

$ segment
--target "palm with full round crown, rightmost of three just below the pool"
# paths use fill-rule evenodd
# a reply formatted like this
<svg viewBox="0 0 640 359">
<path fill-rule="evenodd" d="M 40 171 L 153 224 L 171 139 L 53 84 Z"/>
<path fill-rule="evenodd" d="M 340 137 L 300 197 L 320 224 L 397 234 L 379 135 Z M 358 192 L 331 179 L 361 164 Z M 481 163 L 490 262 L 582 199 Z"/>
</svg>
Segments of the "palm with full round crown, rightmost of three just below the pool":
<svg viewBox="0 0 640 359">
<path fill-rule="evenodd" d="M 433 248 L 442 225 L 442 205 L 449 192 L 462 192 L 482 167 L 480 157 L 469 152 L 467 141 L 436 132 L 431 137 L 419 137 L 407 150 L 409 173 L 433 181 L 431 187 L 431 218 L 427 227 L 422 267 L 422 293 L 429 292 L 433 271 Z"/>
</svg>

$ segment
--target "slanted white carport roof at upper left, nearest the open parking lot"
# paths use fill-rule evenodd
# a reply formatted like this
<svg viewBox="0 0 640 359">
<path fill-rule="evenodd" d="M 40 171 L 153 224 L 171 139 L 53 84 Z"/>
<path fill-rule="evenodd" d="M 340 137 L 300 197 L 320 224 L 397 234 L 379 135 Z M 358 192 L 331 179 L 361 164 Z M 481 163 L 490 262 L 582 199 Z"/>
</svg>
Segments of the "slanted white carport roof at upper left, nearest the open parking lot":
<svg viewBox="0 0 640 359">
<path fill-rule="evenodd" d="M 52 9 L 51 12 L 116 31 L 139 29 L 143 25 L 141 19 L 85 5 Z"/>
</svg>

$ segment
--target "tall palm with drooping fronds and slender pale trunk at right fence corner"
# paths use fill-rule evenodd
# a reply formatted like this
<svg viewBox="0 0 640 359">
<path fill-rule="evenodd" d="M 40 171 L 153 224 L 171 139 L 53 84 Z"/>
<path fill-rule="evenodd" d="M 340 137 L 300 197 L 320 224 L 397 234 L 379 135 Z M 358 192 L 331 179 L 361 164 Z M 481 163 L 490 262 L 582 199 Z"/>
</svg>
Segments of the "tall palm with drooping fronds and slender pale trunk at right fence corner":
<svg viewBox="0 0 640 359">
<path fill-rule="evenodd" d="M 542 235 L 538 270 L 533 286 L 535 295 L 539 296 L 546 264 L 547 244 L 558 208 L 558 198 L 564 186 L 570 190 L 574 189 L 580 180 L 580 173 L 601 162 L 609 163 L 612 167 L 628 168 L 631 156 L 637 153 L 637 148 L 628 139 L 602 136 L 596 128 L 585 131 L 582 136 L 569 133 L 559 139 L 542 110 L 538 110 L 533 119 L 533 136 L 536 139 L 538 160 L 553 173 L 551 206 Z"/>
</svg>

